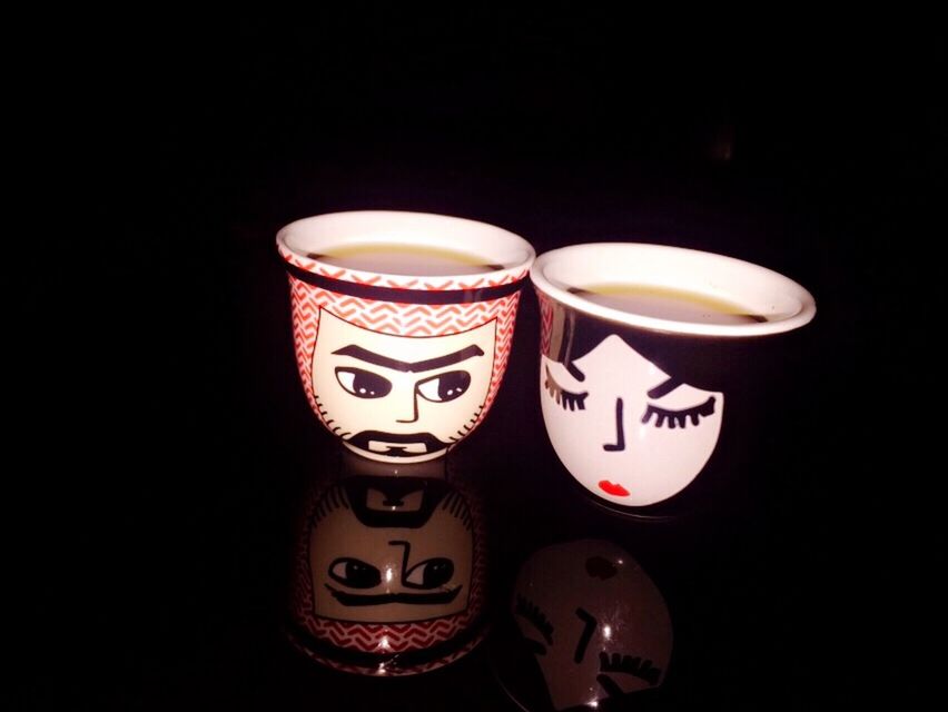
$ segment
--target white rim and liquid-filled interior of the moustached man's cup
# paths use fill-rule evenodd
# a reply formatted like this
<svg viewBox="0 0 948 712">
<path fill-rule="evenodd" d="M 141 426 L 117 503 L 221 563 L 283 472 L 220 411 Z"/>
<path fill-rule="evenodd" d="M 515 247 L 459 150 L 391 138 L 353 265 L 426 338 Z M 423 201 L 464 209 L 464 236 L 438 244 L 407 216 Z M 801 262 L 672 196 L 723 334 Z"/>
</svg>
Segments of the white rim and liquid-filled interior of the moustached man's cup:
<svg viewBox="0 0 948 712">
<path fill-rule="evenodd" d="M 503 228 L 443 215 L 387 210 L 333 212 L 297 220 L 277 234 L 285 258 L 307 269 L 348 269 L 392 277 L 496 280 L 527 267 L 532 246 Z"/>
</svg>

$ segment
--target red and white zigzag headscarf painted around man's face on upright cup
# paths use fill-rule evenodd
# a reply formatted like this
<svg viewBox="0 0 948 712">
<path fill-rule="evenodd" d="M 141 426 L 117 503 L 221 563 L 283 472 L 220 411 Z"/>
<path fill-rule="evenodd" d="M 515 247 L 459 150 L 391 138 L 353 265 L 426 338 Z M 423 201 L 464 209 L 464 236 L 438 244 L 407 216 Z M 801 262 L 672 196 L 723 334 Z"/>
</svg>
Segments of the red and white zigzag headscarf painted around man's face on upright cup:
<svg viewBox="0 0 948 712">
<path fill-rule="evenodd" d="M 320 421 L 322 415 L 313 397 L 313 352 L 316 348 L 316 336 L 319 332 L 320 309 L 327 309 L 349 324 L 373 332 L 418 338 L 457 334 L 496 319 L 497 332 L 491 387 L 481 416 L 471 428 L 472 431 L 491 408 L 510 358 L 520 291 L 490 301 L 426 305 L 362 299 L 313 286 L 293 276 L 289 277 L 289 287 L 296 364 L 303 379 L 306 399 L 309 400 L 309 406 Z"/>
</svg>

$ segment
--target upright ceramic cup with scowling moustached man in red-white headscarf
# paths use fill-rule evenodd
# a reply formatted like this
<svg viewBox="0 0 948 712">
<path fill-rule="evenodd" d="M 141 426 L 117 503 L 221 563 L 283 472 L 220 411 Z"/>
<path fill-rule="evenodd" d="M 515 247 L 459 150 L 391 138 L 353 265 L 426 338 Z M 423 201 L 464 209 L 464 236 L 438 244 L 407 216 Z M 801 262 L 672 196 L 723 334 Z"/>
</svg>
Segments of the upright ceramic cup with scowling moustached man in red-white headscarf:
<svg viewBox="0 0 948 712">
<path fill-rule="evenodd" d="M 491 408 L 534 251 L 498 227 L 356 211 L 277 235 L 303 388 L 319 421 L 383 462 L 438 457 Z"/>
</svg>

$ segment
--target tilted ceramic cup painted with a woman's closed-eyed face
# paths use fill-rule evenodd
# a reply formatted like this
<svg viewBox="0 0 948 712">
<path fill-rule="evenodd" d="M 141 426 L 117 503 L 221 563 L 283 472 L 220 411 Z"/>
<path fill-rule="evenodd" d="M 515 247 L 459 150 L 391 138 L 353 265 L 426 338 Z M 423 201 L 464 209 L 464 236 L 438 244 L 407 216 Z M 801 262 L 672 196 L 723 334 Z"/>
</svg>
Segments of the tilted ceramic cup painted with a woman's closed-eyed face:
<svg viewBox="0 0 948 712">
<path fill-rule="evenodd" d="M 816 314 L 803 287 L 770 269 L 660 245 L 564 247 L 541 255 L 531 278 L 550 442 L 621 512 L 673 512 L 687 495 L 691 508 L 722 492 L 776 405 L 761 389 L 793 379 L 782 339 Z"/>
</svg>

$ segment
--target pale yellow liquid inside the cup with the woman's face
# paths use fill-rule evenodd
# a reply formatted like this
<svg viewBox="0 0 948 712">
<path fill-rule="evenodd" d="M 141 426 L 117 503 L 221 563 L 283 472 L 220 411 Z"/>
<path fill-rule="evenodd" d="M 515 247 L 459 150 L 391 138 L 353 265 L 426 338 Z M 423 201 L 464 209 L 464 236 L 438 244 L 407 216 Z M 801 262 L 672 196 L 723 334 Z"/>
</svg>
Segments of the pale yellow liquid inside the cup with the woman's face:
<svg viewBox="0 0 948 712">
<path fill-rule="evenodd" d="M 757 324 L 767 317 L 717 297 L 695 291 L 631 284 L 572 287 L 570 291 L 595 304 L 630 314 L 688 324 Z"/>
</svg>

